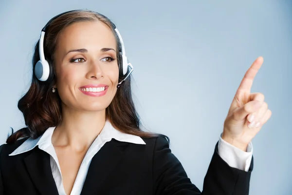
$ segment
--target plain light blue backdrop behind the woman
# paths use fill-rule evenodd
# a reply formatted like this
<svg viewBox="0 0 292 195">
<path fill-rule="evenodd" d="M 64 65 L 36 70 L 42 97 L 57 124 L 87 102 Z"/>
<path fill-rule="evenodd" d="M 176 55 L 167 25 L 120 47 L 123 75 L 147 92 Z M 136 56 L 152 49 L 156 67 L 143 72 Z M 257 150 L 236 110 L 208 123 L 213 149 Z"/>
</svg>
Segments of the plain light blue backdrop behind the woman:
<svg viewBox="0 0 292 195">
<path fill-rule="evenodd" d="M 17 102 L 30 84 L 40 30 L 80 8 L 117 25 L 143 124 L 170 137 L 200 189 L 237 87 L 263 56 L 252 92 L 265 95 L 273 114 L 253 139 L 250 195 L 292 194 L 291 0 L 0 0 L 0 143 L 9 127 L 24 126 Z"/>
</svg>

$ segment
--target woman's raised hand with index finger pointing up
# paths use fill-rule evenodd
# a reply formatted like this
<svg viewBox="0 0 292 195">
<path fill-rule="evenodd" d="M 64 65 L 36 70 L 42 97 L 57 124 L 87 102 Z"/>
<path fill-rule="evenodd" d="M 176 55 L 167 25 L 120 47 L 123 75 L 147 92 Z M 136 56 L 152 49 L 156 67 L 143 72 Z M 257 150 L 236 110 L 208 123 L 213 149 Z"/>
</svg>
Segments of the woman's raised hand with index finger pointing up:
<svg viewBox="0 0 292 195">
<path fill-rule="evenodd" d="M 222 139 L 245 152 L 249 142 L 272 115 L 264 95 L 250 92 L 262 63 L 263 58 L 258 57 L 245 73 L 224 121 Z"/>
</svg>

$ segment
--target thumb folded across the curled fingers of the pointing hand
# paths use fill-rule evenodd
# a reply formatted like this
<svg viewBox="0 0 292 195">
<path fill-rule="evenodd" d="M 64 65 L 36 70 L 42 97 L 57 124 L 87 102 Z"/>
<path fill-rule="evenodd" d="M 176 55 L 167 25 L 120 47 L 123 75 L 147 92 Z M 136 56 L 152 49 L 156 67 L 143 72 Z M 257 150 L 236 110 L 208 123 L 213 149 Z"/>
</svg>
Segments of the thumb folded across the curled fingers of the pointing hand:
<svg viewBox="0 0 292 195">
<path fill-rule="evenodd" d="M 253 100 L 253 101 L 249 101 L 246 104 L 244 104 L 244 106 L 242 106 L 241 108 L 237 109 L 234 112 L 234 119 L 236 121 L 242 120 L 244 119 L 247 115 L 256 112 L 260 106 L 262 105 L 262 101 L 258 101 L 258 100 Z"/>
</svg>

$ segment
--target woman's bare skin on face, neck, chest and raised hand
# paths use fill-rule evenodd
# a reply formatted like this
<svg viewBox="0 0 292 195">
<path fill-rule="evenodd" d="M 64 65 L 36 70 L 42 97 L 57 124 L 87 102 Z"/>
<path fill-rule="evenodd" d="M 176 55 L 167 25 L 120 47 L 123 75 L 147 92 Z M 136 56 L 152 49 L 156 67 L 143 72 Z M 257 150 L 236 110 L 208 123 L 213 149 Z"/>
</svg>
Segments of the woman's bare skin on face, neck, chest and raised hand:
<svg viewBox="0 0 292 195">
<path fill-rule="evenodd" d="M 88 52 L 67 54 L 70 50 L 82 48 Z M 62 100 L 62 122 L 55 128 L 52 143 L 66 194 L 71 193 L 80 164 L 105 124 L 105 109 L 117 90 L 119 71 L 116 52 L 101 52 L 102 48 L 116 49 L 116 40 L 110 28 L 100 21 L 74 23 L 66 27 L 58 38 L 55 51 L 57 82 L 54 88 Z M 115 60 L 110 61 L 107 57 Z M 71 59 L 76 60 L 70 62 Z M 272 114 L 263 94 L 250 93 L 262 63 L 263 58 L 257 58 L 246 72 L 224 121 L 222 138 L 243 151 Z M 87 84 L 100 83 L 109 86 L 102 97 L 86 96 L 79 89 Z M 260 122 L 258 127 L 249 127 L 252 115 L 255 116 L 254 121 Z"/>
</svg>

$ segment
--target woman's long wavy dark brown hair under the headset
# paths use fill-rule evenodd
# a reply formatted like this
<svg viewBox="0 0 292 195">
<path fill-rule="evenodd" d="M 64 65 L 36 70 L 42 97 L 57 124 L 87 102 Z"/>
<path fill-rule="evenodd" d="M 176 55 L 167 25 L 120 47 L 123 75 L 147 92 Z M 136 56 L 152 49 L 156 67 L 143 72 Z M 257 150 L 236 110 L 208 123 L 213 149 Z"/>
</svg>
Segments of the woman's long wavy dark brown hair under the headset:
<svg viewBox="0 0 292 195">
<path fill-rule="evenodd" d="M 44 53 L 47 61 L 53 65 L 53 78 L 50 82 L 39 81 L 35 74 L 32 74 L 30 88 L 27 93 L 19 99 L 18 109 L 22 112 L 26 127 L 19 129 L 9 136 L 7 143 L 14 143 L 21 137 L 36 139 L 41 136 L 49 127 L 57 126 L 62 120 L 61 99 L 58 93 L 52 93 L 52 87 L 56 83 L 54 68 L 54 52 L 58 35 L 67 26 L 80 21 L 102 21 L 110 27 L 116 38 L 117 60 L 119 63 L 119 52 L 122 51 L 121 42 L 114 30 L 111 21 L 103 15 L 90 10 L 76 10 L 59 16 L 51 21 L 47 27 L 44 37 Z M 35 45 L 32 65 L 33 72 L 39 58 L 38 42 Z M 119 82 L 125 78 L 119 76 Z M 169 137 L 151 132 L 144 132 L 141 129 L 141 121 L 136 112 L 131 96 L 131 78 L 128 77 L 123 85 L 117 90 L 116 95 L 106 108 L 106 118 L 119 131 L 139 137 Z"/>
</svg>

